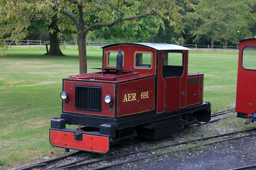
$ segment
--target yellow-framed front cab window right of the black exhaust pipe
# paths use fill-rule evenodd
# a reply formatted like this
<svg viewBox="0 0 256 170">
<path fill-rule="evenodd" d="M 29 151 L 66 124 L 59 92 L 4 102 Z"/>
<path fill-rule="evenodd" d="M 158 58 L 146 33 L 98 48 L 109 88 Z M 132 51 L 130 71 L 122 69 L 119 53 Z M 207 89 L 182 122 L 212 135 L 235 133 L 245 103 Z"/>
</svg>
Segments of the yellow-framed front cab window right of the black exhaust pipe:
<svg viewBox="0 0 256 170">
<path fill-rule="evenodd" d="M 134 53 L 134 67 L 136 69 L 152 69 L 153 53 L 139 52 Z"/>
</svg>

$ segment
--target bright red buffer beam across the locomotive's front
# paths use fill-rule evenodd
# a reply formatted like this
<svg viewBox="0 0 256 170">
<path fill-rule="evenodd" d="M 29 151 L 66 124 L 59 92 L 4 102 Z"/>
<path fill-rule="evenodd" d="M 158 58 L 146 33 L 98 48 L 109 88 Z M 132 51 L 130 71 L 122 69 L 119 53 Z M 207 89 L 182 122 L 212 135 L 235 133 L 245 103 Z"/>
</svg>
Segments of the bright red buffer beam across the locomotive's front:
<svg viewBox="0 0 256 170">
<path fill-rule="evenodd" d="M 83 141 L 74 140 L 73 132 L 50 130 L 50 143 L 53 146 L 72 148 L 90 152 L 109 151 L 109 137 L 83 134 Z"/>
</svg>

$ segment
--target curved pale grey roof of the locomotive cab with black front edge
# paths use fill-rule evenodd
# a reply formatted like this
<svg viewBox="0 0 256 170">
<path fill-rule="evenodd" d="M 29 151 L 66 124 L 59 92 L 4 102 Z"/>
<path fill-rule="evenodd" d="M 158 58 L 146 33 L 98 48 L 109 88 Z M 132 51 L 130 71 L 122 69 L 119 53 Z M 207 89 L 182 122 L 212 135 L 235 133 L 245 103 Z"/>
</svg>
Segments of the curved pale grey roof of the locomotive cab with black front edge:
<svg viewBox="0 0 256 170">
<path fill-rule="evenodd" d="M 169 43 L 114 43 L 110 45 L 106 45 L 102 47 L 103 49 L 113 46 L 119 46 L 119 45 L 137 45 L 137 46 L 143 46 L 143 47 L 149 47 L 157 51 L 166 51 L 166 50 L 190 50 L 189 48 L 182 47 L 179 45 L 169 44 Z"/>
</svg>

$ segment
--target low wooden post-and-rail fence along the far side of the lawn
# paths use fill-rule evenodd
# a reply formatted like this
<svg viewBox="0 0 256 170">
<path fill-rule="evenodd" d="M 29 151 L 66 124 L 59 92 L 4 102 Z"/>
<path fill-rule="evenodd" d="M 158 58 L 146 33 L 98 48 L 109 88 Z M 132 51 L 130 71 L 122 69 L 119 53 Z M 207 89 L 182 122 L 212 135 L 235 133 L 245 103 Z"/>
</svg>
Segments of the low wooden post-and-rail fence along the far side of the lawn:
<svg viewBox="0 0 256 170">
<path fill-rule="evenodd" d="M 5 43 L 7 45 L 12 45 L 12 46 L 15 46 L 15 45 L 49 45 L 50 44 L 50 41 L 42 41 L 42 40 L 18 40 L 19 43 L 17 41 L 11 41 L 11 40 L 8 40 L 8 41 L 5 41 Z M 77 45 L 77 42 L 75 41 L 60 41 L 60 45 L 63 45 L 63 44 L 66 44 L 66 45 Z M 90 41 L 86 41 L 86 45 L 87 46 L 105 46 L 105 45 L 110 45 L 110 44 L 113 44 L 113 42 L 90 42 Z M 207 49 L 211 49 L 211 47 L 213 47 L 214 49 L 233 49 L 233 50 L 238 50 L 239 49 L 239 46 L 211 46 L 211 45 L 197 45 L 197 44 L 186 44 L 186 45 L 181 45 L 183 47 L 187 47 L 187 48 L 191 48 L 191 49 L 198 49 L 198 48 L 207 48 Z"/>
</svg>

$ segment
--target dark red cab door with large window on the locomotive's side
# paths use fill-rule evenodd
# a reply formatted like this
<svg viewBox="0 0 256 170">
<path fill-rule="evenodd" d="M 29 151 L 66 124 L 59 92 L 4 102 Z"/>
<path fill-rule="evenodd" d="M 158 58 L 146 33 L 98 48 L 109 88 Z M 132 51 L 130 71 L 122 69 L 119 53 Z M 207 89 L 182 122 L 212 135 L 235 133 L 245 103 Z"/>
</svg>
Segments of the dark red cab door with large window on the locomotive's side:
<svg viewBox="0 0 256 170">
<path fill-rule="evenodd" d="M 165 112 L 177 111 L 186 107 L 188 53 L 185 51 L 163 54 L 162 74 L 166 79 Z"/>
</svg>

